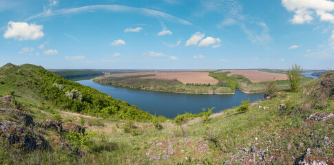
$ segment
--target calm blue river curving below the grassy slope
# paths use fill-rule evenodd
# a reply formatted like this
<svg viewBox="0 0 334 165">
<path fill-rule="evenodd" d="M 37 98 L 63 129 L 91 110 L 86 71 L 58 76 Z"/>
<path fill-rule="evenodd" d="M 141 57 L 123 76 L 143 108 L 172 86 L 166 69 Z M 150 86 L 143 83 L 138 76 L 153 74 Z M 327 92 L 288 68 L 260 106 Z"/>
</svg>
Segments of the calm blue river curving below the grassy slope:
<svg viewBox="0 0 334 165">
<path fill-rule="evenodd" d="M 204 107 L 216 107 L 213 110 L 216 113 L 238 106 L 241 100 L 249 99 L 252 102 L 262 100 L 264 95 L 244 94 L 238 90 L 234 95 L 173 94 L 101 85 L 94 83 L 92 79 L 79 80 L 77 83 L 95 88 L 111 95 L 113 98 L 134 104 L 143 111 L 148 111 L 151 114 L 156 113 L 156 115 L 165 115 L 167 118 L 174 118 L 178 113 L 200 113 Z"/>
</svg>

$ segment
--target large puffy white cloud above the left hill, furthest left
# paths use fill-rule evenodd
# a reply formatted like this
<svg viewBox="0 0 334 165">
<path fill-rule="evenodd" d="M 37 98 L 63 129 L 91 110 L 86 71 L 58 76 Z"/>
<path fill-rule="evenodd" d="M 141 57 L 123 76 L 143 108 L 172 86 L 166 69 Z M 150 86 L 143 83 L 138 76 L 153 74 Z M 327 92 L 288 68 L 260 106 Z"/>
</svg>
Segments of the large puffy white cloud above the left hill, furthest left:
<svg viewBox="0 0 334 165">
<path fill-rule="evenodd" d="M 5 39 L 11 39 L 11 38 L 19 39 L 19 41 L 36 40 L 44 36 L 42 30 L 43 30 L 43 25 L 10 21 L 8 23 L 8 27 L 5 34 L 3 34 L 3 37 Z"/>
</svg>

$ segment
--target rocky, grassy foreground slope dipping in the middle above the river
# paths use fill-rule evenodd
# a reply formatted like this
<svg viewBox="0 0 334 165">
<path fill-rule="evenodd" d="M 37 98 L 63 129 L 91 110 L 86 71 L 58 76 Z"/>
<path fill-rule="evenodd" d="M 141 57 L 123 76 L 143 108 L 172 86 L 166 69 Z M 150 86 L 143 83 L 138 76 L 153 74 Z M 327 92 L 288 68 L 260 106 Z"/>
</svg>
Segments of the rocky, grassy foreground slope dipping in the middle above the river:
<svg viewBox="0 0 334 165">
<path fill-rule="evenodd" d="M 77 118 L 78 113 L 26 104 L 31 99 L 20 98 L 21 92 L 17 103 L 0 98 L 0 164 L 334 164 L 334 72 L 304 83 L 297 93 L 279 91 L 249 109 L 244 104 L 165 122 Z M 53 116 L 61 119 L 59 125 L 45 124 L 57 119 Z M 78 130 L 70 130 L 70 123 L 85 126 L 85 136 L 74 138 Z M 57 131 L 60 125 L 63 131 Z M 32 137 L 36 144 L 28 149 Z"/>
</svg>

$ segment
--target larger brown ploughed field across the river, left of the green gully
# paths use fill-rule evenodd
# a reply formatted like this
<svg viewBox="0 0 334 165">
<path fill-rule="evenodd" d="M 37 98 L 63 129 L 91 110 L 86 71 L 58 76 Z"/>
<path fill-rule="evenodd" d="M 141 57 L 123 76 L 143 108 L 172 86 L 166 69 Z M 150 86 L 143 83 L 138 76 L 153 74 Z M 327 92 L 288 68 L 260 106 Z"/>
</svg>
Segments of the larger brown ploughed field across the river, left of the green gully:
<svg viewBox="0 0 334 165">
<path fill-rule="evenodd" d="M 156 76 L 150 76 L 145 78 L 158 78 L 158 79 L 167 79 L 173 80 L 177 79 L 183 84 L 187 83 L 203 83 L 215 85 L 218 83 L 218 80 L 209 76 L 209 72 L 184 72 L 184 71 L 174 71 L 174 72 L 138 72 L 138 73 L 127 73 L 127 74 L 116 74 L 116 76 L 137 76 L 145 74 L 155 74 Z"/>
</svg>

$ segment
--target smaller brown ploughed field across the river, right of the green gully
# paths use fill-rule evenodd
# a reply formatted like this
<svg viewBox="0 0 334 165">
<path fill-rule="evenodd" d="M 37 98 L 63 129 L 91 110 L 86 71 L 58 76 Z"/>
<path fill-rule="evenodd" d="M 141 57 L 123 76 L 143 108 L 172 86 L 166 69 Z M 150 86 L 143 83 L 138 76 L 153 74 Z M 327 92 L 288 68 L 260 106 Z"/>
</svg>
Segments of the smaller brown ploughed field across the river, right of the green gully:
<svg viewBox="0 0 334 165">
<path fill-rule="evenodd" d="M 231 72 L 227 76 L 232 76 L 233 74 L 242 75 L 252 82 L 265 82 L 271 81 L 273 78 L 275 80 L 287 80 L 288 77 L 285 74 L 275 74 L 269 72 L 261 72 L 258 70 L 222 70 L 220 72 Z"/>
</svg>

